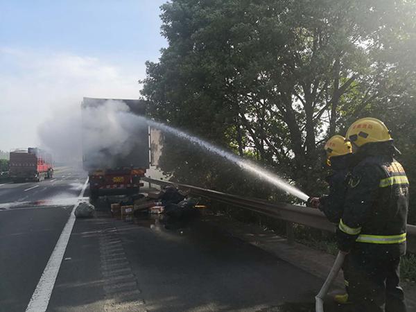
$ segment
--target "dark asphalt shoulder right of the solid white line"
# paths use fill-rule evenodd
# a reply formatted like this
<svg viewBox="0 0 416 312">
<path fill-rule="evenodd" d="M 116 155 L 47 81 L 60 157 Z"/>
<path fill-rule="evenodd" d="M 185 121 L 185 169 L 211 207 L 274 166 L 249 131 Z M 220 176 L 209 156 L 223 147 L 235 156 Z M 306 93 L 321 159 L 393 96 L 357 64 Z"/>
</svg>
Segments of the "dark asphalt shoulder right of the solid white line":
<svg viewBox="0 0 416 312">
<path fill-rule="evenodd" d="M 77 220 L 64 258 L 48 311 L 308 312 L 322 285 L 203 218 L 165 229 L 98 211 Z"/>
</svg>

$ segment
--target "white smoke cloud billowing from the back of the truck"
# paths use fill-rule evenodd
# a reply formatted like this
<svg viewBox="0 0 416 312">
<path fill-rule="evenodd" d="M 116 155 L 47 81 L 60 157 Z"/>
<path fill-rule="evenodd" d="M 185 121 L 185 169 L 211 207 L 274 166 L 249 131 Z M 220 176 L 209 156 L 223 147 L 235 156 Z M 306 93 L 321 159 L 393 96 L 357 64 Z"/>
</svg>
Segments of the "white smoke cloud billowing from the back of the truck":
<svg viewBox="0 0 416 312">
<path fill-rule="evenodd" d="M 137 130 L 143 127 L 147 131 L 147 124 L 138 122 L 123 101 L 107 100 L 96 106 L 81 109 L 79 104 L 60 111 L 38 132 L 42 147 L 58 162 L 73 165 L 84 161 L 87 168 L 112 168 L 132 153 Z"/>
</svg>

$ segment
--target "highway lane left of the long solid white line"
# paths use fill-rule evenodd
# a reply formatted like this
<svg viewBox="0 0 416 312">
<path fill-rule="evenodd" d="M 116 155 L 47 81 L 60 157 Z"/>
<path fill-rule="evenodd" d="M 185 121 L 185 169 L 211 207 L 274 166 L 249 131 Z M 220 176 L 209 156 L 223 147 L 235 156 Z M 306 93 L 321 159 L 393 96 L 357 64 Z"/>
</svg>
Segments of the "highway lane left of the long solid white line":
<svg viewBox="0 0 416 312">
<path fill-rule="evenodd" d="M 52 180 L 0 186 L 0 311 L 25 311 L 85 180 L 62 168 Z"/>
</svg>

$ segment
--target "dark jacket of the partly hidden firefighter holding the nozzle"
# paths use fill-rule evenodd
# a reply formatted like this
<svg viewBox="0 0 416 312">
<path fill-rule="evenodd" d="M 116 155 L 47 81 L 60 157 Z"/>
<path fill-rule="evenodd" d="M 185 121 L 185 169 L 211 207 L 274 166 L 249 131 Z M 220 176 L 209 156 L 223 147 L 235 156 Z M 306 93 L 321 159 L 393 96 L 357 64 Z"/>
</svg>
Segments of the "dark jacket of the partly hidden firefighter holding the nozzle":
<svg viewBox="0 0 416 312">
<path fill-rule="evenodd" d="M 331 157 L 332 174 L 327 177 L 329 194 L 320 198 L 319 209 L 332 223 L 339 223 L 343 216 L 348 179 L 354 154 Z"/>
</svg>

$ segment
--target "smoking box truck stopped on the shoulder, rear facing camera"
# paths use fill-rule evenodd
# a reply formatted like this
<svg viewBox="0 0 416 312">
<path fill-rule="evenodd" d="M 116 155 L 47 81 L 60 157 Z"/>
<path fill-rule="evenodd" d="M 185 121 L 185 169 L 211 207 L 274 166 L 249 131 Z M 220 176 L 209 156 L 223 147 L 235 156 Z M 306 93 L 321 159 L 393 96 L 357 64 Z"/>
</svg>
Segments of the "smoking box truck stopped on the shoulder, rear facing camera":
<svg viewBox="0 0 416 312">
<path fill-rule="evenodd" d="M 127 112 L 123 111 L 125 114 L 145 114 L 145 103 L 140 100 L 85 97 L 81 104 L 83 167 L 88 171 L 89 191 L 93 199 L 137 193 L 143 186 L 140 178 L 149 168 L 147 123 L 135 122 L 134 126 L 128 127 L 129 133 L 121 138 L 114 133 L 123 127 L 123 124 L 114 123 L 126 122 L 117 119 L 115 115 L 118 112 L 111 109 L 112 105 L 120 104 L 128 107 Z"/>
</svg>

